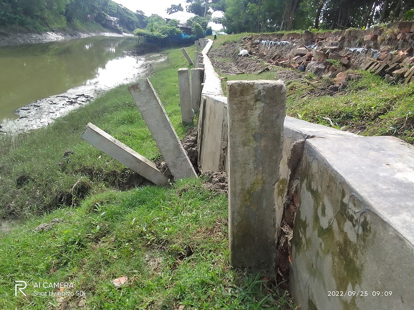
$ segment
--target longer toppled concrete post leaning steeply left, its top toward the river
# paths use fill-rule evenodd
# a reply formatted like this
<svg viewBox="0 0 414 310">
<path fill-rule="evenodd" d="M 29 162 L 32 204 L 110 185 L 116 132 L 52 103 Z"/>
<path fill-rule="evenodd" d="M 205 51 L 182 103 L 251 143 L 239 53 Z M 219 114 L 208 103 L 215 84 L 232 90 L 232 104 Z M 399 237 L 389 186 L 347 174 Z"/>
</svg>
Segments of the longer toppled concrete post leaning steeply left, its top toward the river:
<svg viewBox="0 0 414 310">
<path fill-rule="evenodd" d="M 164 107 L 148 79 L 128 87 L 175 179 L 197 177 Z"/>
</svg>

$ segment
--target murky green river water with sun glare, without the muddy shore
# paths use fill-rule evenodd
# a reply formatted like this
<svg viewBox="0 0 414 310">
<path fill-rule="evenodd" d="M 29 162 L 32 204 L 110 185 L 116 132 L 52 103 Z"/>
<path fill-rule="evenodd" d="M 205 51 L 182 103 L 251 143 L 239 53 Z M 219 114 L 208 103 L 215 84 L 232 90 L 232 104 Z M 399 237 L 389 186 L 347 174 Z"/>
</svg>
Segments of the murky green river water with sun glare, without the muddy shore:
<svg viewBox="0 0 414 310">
<path fill-rule="evenodd" d="M 16 119 L 17 108 L 68 89 L 121 83 L 136 62 L 122 51 L 134 43 L 130 37 L 91 37 L 0 48 L 0 123 Z"/>
</svg>

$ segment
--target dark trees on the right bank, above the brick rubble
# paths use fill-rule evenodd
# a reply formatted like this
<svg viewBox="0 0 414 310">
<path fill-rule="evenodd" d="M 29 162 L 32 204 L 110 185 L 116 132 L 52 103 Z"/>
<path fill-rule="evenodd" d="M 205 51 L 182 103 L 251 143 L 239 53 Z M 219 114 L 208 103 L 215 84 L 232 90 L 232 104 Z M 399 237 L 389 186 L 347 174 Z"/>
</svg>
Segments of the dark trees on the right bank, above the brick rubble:
<svg viewBox="0 0 414 310">
<path fill-rule="evenodd" d="M 413 8 L 414 0 L 225 0 L 217 22 L 229 32 L 362 28 L 407 19 Z"/>
</svg>

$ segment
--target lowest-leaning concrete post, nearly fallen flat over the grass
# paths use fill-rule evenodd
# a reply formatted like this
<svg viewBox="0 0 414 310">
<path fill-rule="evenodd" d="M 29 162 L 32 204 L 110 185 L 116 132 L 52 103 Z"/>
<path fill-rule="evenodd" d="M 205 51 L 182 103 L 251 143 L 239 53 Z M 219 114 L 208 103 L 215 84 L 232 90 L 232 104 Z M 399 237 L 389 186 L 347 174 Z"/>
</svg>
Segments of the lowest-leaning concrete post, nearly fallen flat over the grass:
<svg viewBox="0 0 414 310">
<path fill-rule="evenodd" d="M 82 139 L 154 184 L 168 184 L 168 178 L 157 169 L 154 163 L 92 123 L 87 125 L 82 133 Z"/>
</svg>

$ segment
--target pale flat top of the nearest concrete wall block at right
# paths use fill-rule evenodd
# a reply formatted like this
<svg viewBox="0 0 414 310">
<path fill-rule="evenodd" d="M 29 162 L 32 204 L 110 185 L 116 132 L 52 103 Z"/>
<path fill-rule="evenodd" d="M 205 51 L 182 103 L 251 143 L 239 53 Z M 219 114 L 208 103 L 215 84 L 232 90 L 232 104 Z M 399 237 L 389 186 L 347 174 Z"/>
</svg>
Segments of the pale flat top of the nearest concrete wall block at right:
<svg viewBox="0 0 414 310">
<path fill-rule="evenodd" d="M 371 211 L 414 245 L 414 148 L 387 136 L 307 139 Z"/>
</svg>

